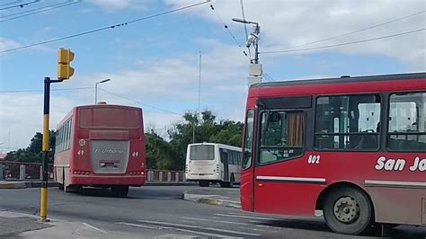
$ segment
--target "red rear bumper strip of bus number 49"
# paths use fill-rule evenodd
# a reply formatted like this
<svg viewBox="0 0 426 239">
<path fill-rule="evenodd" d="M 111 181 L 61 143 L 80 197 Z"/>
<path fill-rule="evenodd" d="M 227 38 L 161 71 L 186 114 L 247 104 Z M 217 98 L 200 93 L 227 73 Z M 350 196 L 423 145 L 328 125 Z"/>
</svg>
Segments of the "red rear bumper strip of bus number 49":
<svg viewBox="0 0 426 239">
<path fill-rule="evenodd" d="M 129 185 L 142 186 L 145 184 L 145 175 L 137 176 L 99 176 L 99 175 L 71 175 L 70 184 L 73 185 Z"/>
</svg>

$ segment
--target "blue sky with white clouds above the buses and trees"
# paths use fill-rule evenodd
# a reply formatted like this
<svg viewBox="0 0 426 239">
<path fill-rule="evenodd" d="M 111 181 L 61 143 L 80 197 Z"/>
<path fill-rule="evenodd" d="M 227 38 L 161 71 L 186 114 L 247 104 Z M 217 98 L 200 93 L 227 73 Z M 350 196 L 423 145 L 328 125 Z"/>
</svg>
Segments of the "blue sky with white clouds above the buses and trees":
<svg viewBox="0 0 426 239">
<path fill-rule="evenodd" d="M 231 19 L 244 17 L 261 27 L 262 81 L 426 71 L 424 0 L 0 0 L 0 152 L 42 130 L 59 48 L 75 52 L 75 74 L 52 84 L 52 129 L 107 78 L 98 101 L 141 107 L 163 137 L 198 111 L 199 80 L 201 111 L 242 121 L 250 56 Z"/>
</svg>

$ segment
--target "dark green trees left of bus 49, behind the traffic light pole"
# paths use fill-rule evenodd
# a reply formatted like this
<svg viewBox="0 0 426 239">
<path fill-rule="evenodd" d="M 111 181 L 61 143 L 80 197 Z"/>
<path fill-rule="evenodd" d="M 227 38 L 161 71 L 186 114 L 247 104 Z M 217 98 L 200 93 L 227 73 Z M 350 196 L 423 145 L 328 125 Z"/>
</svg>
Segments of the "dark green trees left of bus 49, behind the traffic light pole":
<svg viewBox="0 0 426 239">
<path fill-rule="evenodd" d="M 41 146 L 43 144 L 43 135 L 37 132 L 34 137 L 31 138 L 30 146 L 23 149 L 20 148 L 16 151 L 7 153 L 4 160 L 17 161 L 17 162 L 30 162 L 30 163 L 41 163 Z M 50 130 L 49 132 L 49 146 L 52 149 L 49 151 L 49 161 L 53 161 L 53 155 L 55 154 L 55 131 Z"/>
</svg>

